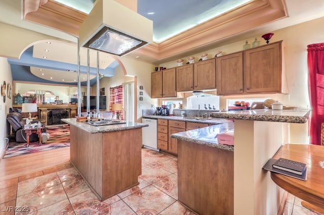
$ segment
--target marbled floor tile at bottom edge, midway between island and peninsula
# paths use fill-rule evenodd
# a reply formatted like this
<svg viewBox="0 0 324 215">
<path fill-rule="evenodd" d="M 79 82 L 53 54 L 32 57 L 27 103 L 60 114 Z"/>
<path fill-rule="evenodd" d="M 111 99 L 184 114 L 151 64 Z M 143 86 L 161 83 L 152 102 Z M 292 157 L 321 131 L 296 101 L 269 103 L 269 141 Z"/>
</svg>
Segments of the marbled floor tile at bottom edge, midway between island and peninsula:
<svg viewBox="0 0 324 215">
<path fill-rule="evenodd" d="M 157 214 L 176 200 L 150 185 L 123 199 L 137 214 Z"/>
</svg>

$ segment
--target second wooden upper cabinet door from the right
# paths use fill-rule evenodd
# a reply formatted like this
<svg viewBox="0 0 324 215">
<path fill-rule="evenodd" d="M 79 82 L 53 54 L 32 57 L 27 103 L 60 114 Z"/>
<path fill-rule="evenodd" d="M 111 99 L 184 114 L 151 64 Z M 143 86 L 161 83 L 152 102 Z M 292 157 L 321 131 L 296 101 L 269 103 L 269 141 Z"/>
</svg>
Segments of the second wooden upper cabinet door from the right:
<svg viewBox="0 0 324 215">
<path fill-rule="evenodd" d="M 216 59 L 216 88 L 218 95 L 243 92 L 242 52 Z"/>
</svg>

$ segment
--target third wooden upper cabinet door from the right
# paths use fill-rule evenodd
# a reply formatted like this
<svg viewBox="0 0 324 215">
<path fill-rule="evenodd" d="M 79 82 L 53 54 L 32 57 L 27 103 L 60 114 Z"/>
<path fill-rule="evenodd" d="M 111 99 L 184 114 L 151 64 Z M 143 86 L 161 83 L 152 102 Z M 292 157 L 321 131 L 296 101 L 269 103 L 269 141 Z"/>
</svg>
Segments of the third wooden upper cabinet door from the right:
<svg viewBox="0 0 324 215">
<path fill-rule="evenodd" d="M 193 65 L 193 89 L 204 90 L 216 87 L 215 59 L 199 61 Z"/>
</svg>

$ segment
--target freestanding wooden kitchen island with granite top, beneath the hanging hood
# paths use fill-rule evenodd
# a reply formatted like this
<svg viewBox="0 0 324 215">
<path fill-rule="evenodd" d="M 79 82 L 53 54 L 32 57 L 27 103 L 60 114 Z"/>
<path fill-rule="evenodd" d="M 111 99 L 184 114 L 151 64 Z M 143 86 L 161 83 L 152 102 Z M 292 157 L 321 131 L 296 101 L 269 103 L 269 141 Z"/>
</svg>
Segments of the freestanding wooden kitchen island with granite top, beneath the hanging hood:
<svg viewBox="0 0 324 215">
<path fill-rule="evenodd" d="M 100 200 L 138 184 L 142 127 L 147 124 L 93 126 L 76 119 L 62 121 L 70 125 L 70 162 Z"/>
</svg>

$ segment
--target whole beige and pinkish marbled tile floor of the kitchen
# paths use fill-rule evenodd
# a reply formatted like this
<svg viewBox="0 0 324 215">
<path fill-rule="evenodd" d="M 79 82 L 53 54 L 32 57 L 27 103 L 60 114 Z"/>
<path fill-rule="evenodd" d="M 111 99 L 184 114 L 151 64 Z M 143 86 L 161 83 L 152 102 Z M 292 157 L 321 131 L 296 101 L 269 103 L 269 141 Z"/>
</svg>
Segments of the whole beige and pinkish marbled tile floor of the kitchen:
<svg viewBox="0 0 324 215">
<path fill-rule="evenodd" d="M 177 201 L 177 171 L 176 157 L 143 148 L 139 185 L 99 201 L 67 163 L 1 182 L 0 214 L 195 214 Z M 289 195 L 284 214 L 318 213 Z"/>
</svg>

